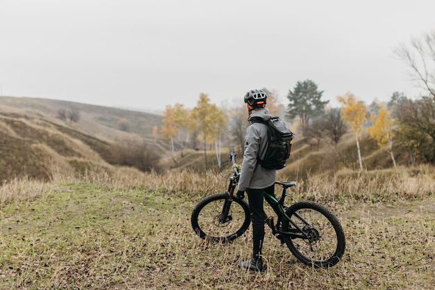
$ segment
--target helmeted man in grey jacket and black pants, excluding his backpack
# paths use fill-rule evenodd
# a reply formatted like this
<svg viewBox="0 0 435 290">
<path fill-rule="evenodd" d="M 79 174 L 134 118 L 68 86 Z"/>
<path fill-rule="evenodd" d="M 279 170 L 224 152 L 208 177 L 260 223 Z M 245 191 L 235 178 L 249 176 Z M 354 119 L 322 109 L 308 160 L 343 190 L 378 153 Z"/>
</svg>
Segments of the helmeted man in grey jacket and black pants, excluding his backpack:
<svg viewBox="0 0 435 290">
<path fill-rule="evenodd" d="M 263 90 L 249 90 L 245 95 L 245 103 L 249 112 L 249 126 L 245 134 L 245 152 L 243 154 L 242 170 L 238 182 L 237 196 L 244 197 L 245 191 L 249 201 L 252 220 L 252 258 L 240 261 L 239 266 L 254 271 L 263 271 L 261 248 L 264 239 L 264 223 L 268 218 L 263 209 L 263 192 L 274 196 L 276 170 L 263 168 L 257 157 L 263 159 L 268 143 L 268 120 L 272 118 L 266 105 L 267 95 Z M 253 122 L 261 118 L 263 122 Z"/>
</svg>

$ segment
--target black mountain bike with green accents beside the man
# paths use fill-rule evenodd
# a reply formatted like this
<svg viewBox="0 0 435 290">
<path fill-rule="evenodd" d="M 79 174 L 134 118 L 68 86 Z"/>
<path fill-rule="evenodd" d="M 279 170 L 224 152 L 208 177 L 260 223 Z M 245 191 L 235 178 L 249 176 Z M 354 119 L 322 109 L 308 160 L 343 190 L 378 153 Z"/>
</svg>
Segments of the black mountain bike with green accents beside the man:
<svg viewBox="0 0 435 290">
<path fill-rule="evenodd" d="M 234 194 L 243 168 L 236 163 L 233 147 L 229 162 L 233 174 L 227 191 L 200 200 L 190 218 L 195 233 L 212 242 L 233 241 L 245 233 L 251 223 L 247 202 Z M 276 181 L 275 184 L 282 188 L 281 198 L 267 193 L 264 196 L 277 215 L 275 223 L 273 216 L 265 214 L 265 224 L 272 229 L 272 234 L 281 245 L 286 243 L 290 252 L 306 265 L 329 268 L 337 264 L 345 252 L 345 233 L 338 218 L 324 205 L 310 200 L 287 206 L 284 204 L 286 191 L 297 182 Z"/>
</svg>

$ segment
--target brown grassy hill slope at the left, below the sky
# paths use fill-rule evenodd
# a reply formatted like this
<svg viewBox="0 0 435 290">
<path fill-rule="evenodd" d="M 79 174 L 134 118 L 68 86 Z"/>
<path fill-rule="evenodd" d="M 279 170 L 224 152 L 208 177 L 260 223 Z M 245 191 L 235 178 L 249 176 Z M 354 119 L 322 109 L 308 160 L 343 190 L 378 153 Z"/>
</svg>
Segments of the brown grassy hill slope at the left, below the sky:
<svg viewBox="0 0 435 290">
<path fill-rule="evenodd" d="M 60 111 L 79 113 L 76 122 L 60 120 Z M 113 145 L 140 138 L 161 152 L 152 130 L 162 116 L 54 99 L 0 97 L 0 182 L 15 177 L 49 179 L 56 170 L 110 172 Z M 128 127 L 120 128 L 120 120 Z"/>
</svg>

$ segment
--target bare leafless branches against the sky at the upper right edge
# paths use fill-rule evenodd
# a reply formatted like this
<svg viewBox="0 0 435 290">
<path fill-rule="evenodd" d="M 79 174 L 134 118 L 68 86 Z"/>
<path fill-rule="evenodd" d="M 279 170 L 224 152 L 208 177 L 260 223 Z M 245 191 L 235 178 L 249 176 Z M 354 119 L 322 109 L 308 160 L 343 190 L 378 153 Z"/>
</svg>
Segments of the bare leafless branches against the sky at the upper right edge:
<svg viewBox="0 0 435 290">
<path fill-rule="evenodd" d="M 411 47 L 399 45 L 394 52 L 411 69 L 413 81 L 435 99 L 435 30 L 413 38 Z"/>
</svg>

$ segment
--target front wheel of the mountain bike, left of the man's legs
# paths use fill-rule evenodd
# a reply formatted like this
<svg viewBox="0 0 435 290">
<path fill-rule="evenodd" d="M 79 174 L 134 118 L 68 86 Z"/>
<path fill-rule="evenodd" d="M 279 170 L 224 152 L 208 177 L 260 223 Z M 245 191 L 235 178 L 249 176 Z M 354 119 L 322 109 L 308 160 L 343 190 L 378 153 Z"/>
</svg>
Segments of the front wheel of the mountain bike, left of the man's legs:
<svg viewBox="0 0 435 290">
<path fill-rule="evenodd" d="M 190 222 L 195 233 L 202 239 L 213 242 L 233 241 L 241 236 L 251 223 L 249 206 L 236 196 L 231 202 L 229 218 L 220 221 L 227 193 L 215 193 L 199 201 L 192 211 Z"/>
</svg>

